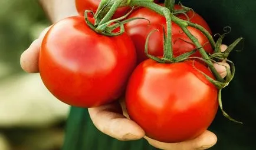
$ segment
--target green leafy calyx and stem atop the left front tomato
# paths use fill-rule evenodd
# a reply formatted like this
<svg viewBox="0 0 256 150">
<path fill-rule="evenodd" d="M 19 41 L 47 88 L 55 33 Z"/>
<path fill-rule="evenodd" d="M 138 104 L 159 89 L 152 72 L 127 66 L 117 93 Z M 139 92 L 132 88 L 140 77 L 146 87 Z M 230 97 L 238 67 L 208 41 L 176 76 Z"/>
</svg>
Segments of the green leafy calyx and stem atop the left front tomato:
<svg viewBox="0 0 256 150">
<path fill-rule="evenodd" d="M 134 19 L 144 19 L 132 18 L 124 20 L 128 15 L 132 13 L 135 6 L 140 6 L 140 3 L 155 4 L 153 0 L 145 0 L 143 2 L 141 2 L 140 0 L 103 0 L 100 2 L 96 14 L 94 14 L 93 11 L 86 10 L 84 13 L 84 18 L 86 20 L 87 25 L 98 34 L 106 36 L 121 35 L 124 32 L 124 24 L 126 24 L 129 21 L 133 21 Z M 111 20 L 116 10 L 123 6 L 130 6 L 132 9 L 126 15 Z M 88 21 L 88 13 L 93 14 L 93 18 L 95 19 L 94 24 Z M 116 32 L 115 30 L 117 28 L 119 28 L 118 32 Z"/>
</svg>

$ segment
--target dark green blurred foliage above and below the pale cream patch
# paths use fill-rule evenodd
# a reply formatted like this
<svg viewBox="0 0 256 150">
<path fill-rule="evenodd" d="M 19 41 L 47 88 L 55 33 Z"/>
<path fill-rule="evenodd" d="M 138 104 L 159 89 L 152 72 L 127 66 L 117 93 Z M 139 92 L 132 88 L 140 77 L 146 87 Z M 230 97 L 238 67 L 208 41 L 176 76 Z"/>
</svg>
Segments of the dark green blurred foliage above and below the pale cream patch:
<svg viewBox="0 0 256 150">
<path fill-rule="evenodd" d="M 0 81 L 25 74 L 19 65 L 19 57 L 49 24 L 36 0 L 0 0 Z M 8 139 L 12 150 L 40 150 L 54 144 L 57 149 L 63 140 L 61 129 L 0 128 L 0 134 Z"/>
</svg>

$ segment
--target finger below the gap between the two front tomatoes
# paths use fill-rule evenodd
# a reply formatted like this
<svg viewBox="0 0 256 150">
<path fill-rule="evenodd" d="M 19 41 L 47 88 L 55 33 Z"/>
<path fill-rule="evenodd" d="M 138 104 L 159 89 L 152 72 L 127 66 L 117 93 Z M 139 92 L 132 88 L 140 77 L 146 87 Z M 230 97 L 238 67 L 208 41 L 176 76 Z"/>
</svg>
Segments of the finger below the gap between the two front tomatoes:
<svg viewBox="0 0 256 150">
<path fill-rule="evenodd" d="M 96 128 L 113 138 L 130 141 L 145 136 L 139 125 L 122 115 L 122 108 L 117 103 L 89 108 L 88 111 Z"/>
</svg>

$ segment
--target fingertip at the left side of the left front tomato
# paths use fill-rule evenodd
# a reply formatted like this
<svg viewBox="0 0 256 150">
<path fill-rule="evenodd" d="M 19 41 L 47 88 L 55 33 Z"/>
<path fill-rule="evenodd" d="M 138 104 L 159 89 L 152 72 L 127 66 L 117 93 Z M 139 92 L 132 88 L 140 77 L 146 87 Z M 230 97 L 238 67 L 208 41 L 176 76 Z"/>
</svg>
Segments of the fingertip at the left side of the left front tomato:
<svg viewBox="0 0 256 150">
<path fill-rule="evenodd" d="M 40 37 L 35 39 L 34 42 L 29 46 L 29 48 L 21 54 L 20 64 L 21 68 L 29 73 L 38 72 L 38 56 L 44 35 L 47 33 L 50 27 L 44 29 L 41 32 Z"/>
</svg>

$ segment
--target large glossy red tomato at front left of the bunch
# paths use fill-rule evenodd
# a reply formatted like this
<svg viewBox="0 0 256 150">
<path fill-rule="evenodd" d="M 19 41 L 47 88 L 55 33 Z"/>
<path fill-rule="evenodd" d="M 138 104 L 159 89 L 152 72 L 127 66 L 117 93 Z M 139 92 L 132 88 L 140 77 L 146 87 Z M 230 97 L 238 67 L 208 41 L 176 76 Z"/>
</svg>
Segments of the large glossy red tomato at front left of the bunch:
<svg viewBox="0 0 256 150">
<path fill-rule="evenodd" d="M 80 107 L 119 98 L 135 65 L 136 51 L 127 34 L 97 34 L 83 16 L 53 25 L 42 41 L 39 58 L 48 90 L 66 104 Z"/>
</svg>

